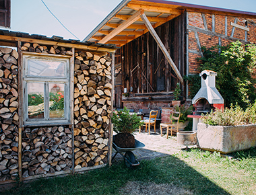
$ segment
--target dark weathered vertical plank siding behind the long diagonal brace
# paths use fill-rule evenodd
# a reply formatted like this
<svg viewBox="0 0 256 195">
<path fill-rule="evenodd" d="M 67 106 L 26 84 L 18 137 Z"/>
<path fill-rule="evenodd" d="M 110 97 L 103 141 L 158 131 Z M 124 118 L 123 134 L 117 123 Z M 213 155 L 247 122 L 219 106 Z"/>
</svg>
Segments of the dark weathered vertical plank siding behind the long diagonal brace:
<svg viewBox="0 0 256 195">
<path fill-rule="evenodd" d="M 185 67 L 185 14 L 156 28 L 156 32 L 170 53 L 182 76 Z M 122 85 L 129 93 L 174 91 L 179 82 L 164 54 L 150 32 L 139 36 L 120 48 L 116 64 L 121 63 Z M 162 80 L 162 81 L 160 81 Z M 131 87 L 133 91 L 131 91 Z"/>
</svg>

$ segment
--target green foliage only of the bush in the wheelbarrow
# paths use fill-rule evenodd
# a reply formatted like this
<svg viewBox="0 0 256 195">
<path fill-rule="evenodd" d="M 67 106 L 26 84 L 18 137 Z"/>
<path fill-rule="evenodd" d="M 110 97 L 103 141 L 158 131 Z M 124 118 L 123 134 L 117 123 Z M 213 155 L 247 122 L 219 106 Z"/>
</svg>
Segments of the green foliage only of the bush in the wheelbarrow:
<svg viewBox="0 0 256 195">
<path fill-rule="evenodd" d="M 117 133 L 132 133 L 143 124 L 143 122 L 140 122 L 141 118 L 137 114 L 129 114 L 126 107 L 119 110 L 117 114 L 114 112 L 111 120 L 114 124 L 114 131 Z"/>
</svg>

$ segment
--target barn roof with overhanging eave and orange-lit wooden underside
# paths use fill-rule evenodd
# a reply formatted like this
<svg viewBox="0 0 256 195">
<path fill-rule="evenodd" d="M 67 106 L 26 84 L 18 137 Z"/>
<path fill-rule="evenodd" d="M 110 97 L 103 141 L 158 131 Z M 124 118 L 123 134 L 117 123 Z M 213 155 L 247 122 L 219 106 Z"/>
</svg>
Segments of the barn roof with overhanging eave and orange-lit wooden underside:
<svg viewBox="0 0 256 195">
<path fill-rule="evenodd" d="M 138 36 L 145 34 L 148 32 L 148 29 L 139 17 L 137 17 L 135 22 L 129 24 L 129 26 L 125 26 L 125 29 L 121 28 L 121 32 L 118 32 L 117 34 L 113 33 L 114 30 L 117 31 L 120 28 L 119 26 L 121 26 L 121 24 L 125 24 L 129 17 L 135 15 L 135 13 L 141 9 L 154 28 L 181 15 L 184 11 L 199 11 L 201 13 L 218 13 L 256 18 L 256 13 L 252 12 L 207 7 L 189 3 L 162 0 L 123 0 L 94 30 L 92 30 L 92 32 L 90 32 L 88 36 L 86 36 L 83 42 L 90 40 L 91 42 L 102 42 L 123 46 Z M 109 36 L 111 33 L 115 34 L 115 36 Z M 105 38 L 108 36 L 110 37 L 109 39 Z M 102 40 L 103 38 L 104 40 Z"/>
</svg>

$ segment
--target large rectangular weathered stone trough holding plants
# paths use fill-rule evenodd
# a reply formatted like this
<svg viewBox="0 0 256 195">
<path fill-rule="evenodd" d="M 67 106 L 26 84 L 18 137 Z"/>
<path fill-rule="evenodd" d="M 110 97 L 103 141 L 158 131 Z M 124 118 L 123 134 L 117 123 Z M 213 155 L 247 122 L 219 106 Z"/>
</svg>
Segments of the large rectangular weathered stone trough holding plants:
<svg viewBox="0 0 256 195">
<path fill-rule="evenodd" d="M 197 125 L 197 147 L 207 151 L 232 153 L 256 146 L 256 124 L 241 126 Z"/>
</svg>

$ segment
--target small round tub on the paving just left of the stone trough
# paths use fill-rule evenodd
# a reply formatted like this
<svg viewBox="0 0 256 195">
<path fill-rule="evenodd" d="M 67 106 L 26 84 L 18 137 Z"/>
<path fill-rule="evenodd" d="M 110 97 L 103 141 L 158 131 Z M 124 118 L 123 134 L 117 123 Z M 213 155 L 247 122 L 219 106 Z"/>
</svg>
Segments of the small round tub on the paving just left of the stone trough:
<svg viewBox="0 0 256 195">
<path fill-rule="evenodd" d="M 197 132 L 181 131 L 177 132 L 177 142 L 179 145 L 191 146 L 197 144 Z"/>
</svg>

